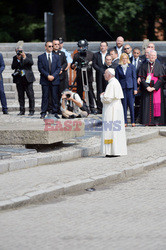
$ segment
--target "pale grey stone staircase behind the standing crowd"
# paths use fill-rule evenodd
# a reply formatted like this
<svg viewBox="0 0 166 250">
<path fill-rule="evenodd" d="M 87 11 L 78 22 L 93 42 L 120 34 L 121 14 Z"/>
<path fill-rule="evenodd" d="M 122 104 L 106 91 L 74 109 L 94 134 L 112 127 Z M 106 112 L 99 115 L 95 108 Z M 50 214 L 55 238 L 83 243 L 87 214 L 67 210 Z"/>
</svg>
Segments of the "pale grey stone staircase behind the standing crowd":
<svg viewBox="0 0 166 250">
<path fill-rule="evenodd" d="M 126 42 L 128 43 L 128 42 Z M 139 47 L 142 49 L 142 42 L 129 42 L 130 45 L 134 47 Z M 154 42 L 156 46 L 157 52 L 166 58 L 166 42 Z M 99 50 L 100 42 L 89 42 L 89 50 L 93 52 L 97 52 Z M 115 46 L 115 42 L 109 42 L 109 47 Z M 5 61 L 5 70 L 3 71 L 3 79 L 4 79 L 4 88 L 8 103 L 9 112 L 18 110 L 18 96 L 16 91 L 16 85 L 13 83 L 12 73 L 13 70 L 11 69 L 12 59 L 15 55 L 15 47 L 16 43 L 0 43 L 0 52 L 3 55 Z M 64 47 L 69 51 L 73 52 L 77 48 L 77 42 L 66 42 L 64 43 Z M 37 57 L 38 55 L 42 54 L 45 51 L 44 43 L 24 43 L 24 51 L 29 52 L 33 56 L 33 72 L 36 78 L 34 82 L 34 92 L 35 92 L 35 106 L 36 110 L 40 110 L 41 105 L 41 86 L 39 84 L 39 72 L 37 68 Z M 95 71 L 94 71 L 95 76 Z M 95 79 L 94 79 L 95 80 Z M 94 81 L 94 88 L 95 88 L 95 81 Z M 26 99 L 26 107 L 28 107 L 28 100 Z"/>
</svg>

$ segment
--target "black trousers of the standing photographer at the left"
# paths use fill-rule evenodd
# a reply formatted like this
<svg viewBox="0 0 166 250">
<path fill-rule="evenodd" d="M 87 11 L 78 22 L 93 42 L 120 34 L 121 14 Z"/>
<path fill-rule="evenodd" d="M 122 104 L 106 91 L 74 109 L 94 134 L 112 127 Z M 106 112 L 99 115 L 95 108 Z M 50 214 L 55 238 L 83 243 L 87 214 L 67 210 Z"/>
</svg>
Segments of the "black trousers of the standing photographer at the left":
<svg viewBox="0 0 166 250">
<path fill-rule="evenodd" d="M 35 111 L 35 97 L 33 83 L 28 83 L 25 76 L 20 77 L 20 82 L 16 84 L 20 111 L 25 112 L 25 93 L 29 99 L 29 111 Z"/>
</svg>

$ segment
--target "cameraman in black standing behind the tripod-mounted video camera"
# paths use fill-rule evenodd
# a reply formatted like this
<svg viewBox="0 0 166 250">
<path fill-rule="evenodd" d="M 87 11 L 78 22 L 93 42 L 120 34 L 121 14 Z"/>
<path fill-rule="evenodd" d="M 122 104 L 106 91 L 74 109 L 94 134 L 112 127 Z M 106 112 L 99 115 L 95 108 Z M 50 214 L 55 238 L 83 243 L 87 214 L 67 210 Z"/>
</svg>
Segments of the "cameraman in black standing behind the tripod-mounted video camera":
<svg viewBox="0 0 166 250">
<path fill-rule="evenodd" d="M 85 96 L 87 94 L 86 102 L 89 105 L 92 114 L 96 114 L 94 108 L 95 95 L 93 92 L 93 72 L 92 72 L 92 60 L 93 53 L 88 51 L 88 42 L 86 39 L 80 40 L 77 43 L 78 53 L 74 54 L 71 68 L 76 69 L 76 82 L 77 82 L 77 93 L 83 99 L 83 91 Z M 88 100 L 87 100 L 88 99 Z M 89 102 L 89 103 L 88 103 Z"/>
</svg>

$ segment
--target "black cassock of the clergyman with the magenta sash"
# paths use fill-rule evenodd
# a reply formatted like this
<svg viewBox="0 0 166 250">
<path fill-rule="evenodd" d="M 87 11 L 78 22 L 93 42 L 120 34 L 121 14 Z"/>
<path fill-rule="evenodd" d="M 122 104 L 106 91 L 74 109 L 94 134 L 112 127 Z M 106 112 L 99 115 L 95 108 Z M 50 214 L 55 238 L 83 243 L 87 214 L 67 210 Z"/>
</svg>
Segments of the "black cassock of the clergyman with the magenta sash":
<svg viewBox="0 0 166 250">
<path fill-rule="evenodd" d="M 164 69 L 161 63 L 155 62 L 152 73 L 154 77 L 157 77 L 158 80 L 155 84 L 151 81 L 150 84 L 146 82 L 148 68 L 150 66 L 149 62 L 143 63 L 140 67 L 138 76 L 141 77 L 141 123 L 144 125 L 165 125 L 165 103 L 164 103 Z M 161 116 L 154 117 L 153 114 L 153 92 L 148 92 L 146 88 L 148 86 L 153 86 L 156 91 L 161 89 Z"/>
</svg>

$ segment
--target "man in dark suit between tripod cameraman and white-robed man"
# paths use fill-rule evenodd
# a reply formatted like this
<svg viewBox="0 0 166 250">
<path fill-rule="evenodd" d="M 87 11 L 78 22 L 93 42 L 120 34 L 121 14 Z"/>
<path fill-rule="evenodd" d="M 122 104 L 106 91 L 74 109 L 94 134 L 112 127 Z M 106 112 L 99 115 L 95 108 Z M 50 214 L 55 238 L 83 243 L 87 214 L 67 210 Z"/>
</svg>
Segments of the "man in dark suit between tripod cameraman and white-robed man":
<svg viewBox="0 0 166 250">
<path fill-rule="evenodd" d="M 93 57 L 93 68 L 96 70 L 96 87 L 97 87 L 97 109 L 98 113 L 102 113 L 102 103 L 100 100 L 100 94 L 104 92 L 105 80 L 104 80 L 104 63 L 105 56 L 107 54 L 108 43 L 102 41 L 100 43 L 100 51 L 96 52 Z"/>
</svg>

